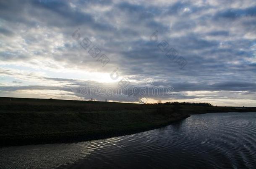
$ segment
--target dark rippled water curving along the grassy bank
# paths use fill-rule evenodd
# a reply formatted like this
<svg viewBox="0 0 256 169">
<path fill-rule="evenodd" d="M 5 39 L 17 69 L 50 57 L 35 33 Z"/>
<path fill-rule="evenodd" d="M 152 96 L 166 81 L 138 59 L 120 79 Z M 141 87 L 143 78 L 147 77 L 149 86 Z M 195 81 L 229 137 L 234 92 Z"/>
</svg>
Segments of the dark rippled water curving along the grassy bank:
<svg viewBox="0 0 256 169">
<path fill-rule="evenodd" d="M 192 115 L 128 136 L 0 148 L 0 168 L 250 168 L 256 113 Z"/>
</svg>

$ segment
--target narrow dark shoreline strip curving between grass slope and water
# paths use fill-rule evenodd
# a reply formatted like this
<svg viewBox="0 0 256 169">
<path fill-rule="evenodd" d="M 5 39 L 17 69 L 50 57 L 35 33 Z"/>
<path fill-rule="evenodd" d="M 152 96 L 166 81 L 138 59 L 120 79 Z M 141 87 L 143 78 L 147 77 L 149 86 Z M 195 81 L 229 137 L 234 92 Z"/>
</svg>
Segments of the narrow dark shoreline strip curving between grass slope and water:
<svg viewBox="0 0 256 169">
<path fill-rule="evenodd" d="M 130 128 L 130 129 L 115 129 L 115 130 L 104 130 L 93 133 L 63 133 L 63 134 L 37 134 L 37 135 L 21 135 L 13 137 L 5 137 L 0 139 L 0 147 L 3 146 L 24 146 L 24 145 L 35 145 L 35 144 L 60 144 L 60 143 L 76 143 L 82 141 L 92 141 L 99 139 L 108 139 L 111 137 L 125 136 L 130 134 L 136 134 L 140 132 L 150 131 L 158 129 L 164 126 L 168 126 L 174 122 L 181 121 L 190 117 L 191 115 L 182 115 L 168 121 L 167 123 L 149 125 L 141 128 Z"/>
</svg>

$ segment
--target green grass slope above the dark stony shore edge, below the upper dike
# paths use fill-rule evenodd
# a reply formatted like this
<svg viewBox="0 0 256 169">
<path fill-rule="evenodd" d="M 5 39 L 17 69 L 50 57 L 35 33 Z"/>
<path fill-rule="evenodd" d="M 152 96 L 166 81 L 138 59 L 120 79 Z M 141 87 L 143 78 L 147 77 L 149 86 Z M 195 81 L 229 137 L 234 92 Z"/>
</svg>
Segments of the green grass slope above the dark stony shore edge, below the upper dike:
<svg viewBox="0 0 256 169">
<path fill-rule="evenodd" d="M 94 132 L 136 128 L 161 124 L 174 119 L 173 114 L 157 114 L 153 110 L 94 112 L 15 112 L 0 113 L 2 136 Z"/>
</svg>

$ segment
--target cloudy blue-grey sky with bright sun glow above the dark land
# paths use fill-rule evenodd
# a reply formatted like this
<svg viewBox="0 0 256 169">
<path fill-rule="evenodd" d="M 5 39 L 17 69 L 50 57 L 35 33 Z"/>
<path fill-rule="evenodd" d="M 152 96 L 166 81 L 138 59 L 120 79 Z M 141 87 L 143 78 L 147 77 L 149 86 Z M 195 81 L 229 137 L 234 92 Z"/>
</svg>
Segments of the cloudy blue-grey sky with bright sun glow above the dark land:
<svg viewBox="0 0 256 169">
<path fill-rule="evenodd" d="M 0 96 L 256 106 L 256 1 L 2 0 Z"/>
</svg>

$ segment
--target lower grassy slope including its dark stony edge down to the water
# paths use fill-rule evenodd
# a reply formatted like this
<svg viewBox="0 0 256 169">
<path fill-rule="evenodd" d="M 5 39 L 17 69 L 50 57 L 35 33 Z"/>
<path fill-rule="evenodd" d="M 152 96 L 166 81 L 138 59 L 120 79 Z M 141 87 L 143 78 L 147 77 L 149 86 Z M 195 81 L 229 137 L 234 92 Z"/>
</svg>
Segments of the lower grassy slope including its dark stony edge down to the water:
<svg viewBox="0 0 256 169">
<path fill-rule="evenodd" d="M 2 111 L 0 145 L 102 139 L 133 134 L 184 118 L 154 109 L 93 112 Z"/>
</svg>

